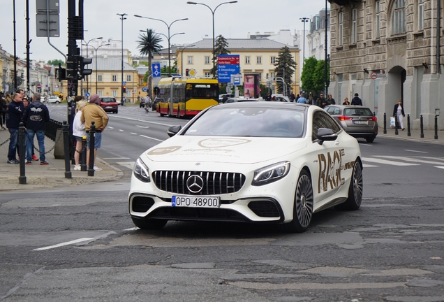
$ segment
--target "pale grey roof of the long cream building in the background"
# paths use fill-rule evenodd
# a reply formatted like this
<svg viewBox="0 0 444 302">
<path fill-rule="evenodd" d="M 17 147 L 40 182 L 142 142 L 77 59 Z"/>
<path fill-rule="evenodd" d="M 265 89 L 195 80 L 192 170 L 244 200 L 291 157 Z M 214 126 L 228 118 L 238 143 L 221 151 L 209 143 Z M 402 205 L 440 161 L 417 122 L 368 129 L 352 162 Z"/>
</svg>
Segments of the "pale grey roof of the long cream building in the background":
<svg viewBox="0 0 444 302">
<path fill-rule="evenodd" d="M 297 50 L 299 48 L 292 47 L 290 45 L 276 42 L 273 40 L 269 40 L 267 38 L 256 38 L 256 39 L 250 39 L 250 38 L 228 38 L 226 39 L 228 43 L 228 50 L 239 50 L 239 49 L 246 49 L 246 50 L 254 50 L 254 49 L 269 49 L 269 50 L 280 50 L 284 46 L 287 46 L 290 48 L 290 50 Z M 191 43 L 191 45 L 195 46 L 187 46 L 187 50 L 196 50 L 196 49 L 213 49 L 213 39 L 205 38 L 203 40 L 200 40 L 195 43 Z M 180 50 L 178 48 L 177 50 Z"/>
</svg>

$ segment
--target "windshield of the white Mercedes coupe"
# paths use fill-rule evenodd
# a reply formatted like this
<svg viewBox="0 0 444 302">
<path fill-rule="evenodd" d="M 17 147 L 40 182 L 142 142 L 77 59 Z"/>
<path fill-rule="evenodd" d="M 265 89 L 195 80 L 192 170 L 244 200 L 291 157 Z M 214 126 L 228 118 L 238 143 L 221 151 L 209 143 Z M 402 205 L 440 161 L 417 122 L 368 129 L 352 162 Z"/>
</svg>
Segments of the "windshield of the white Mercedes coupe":
<svg viewBox="0 0 444 302">
<path fill-rule="evenodd" d="M 186 130 L 192 136 L 256 136 L 299 138 L 304 113 L 288 108 L 211 108 Z"/>
</svg>

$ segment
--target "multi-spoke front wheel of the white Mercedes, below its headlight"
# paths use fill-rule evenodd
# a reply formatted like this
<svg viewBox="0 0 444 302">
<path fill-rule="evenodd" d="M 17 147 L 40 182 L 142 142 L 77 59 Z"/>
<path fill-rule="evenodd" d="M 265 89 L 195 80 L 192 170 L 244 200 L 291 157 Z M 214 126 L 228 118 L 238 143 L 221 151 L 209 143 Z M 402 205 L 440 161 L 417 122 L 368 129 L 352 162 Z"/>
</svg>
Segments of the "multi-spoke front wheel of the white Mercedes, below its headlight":
<svg viewBox="0 0 444 302">
<path fill-rule="evenodd" d="M 297 180 L 293 221 L 284 224 L 284 228 L 292 233 L 302 233 L 308 229 L 313 216 L 313 185 L 309 173 L 302 170 Z"/>
</svg>

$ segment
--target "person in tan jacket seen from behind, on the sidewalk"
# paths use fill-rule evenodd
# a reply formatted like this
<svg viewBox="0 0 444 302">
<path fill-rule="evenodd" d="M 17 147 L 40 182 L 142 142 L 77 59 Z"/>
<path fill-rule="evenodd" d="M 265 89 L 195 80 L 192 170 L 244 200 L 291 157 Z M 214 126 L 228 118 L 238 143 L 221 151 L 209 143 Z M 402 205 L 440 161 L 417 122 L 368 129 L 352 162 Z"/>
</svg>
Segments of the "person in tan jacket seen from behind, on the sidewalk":
<svg viewBox="0 0 444 302">
<path fill-rule="evenodd" d="M 87 141 L 89 142 L 89 129 L 91 129 L 91 122 L 95 122 L 96 126 L 96 134 L 94 135 L 94 162 L 96 161 L 97 149 L 101 148 L 102 142 L 102 131 L 105 130 L 106 125 L 108 124 L 108 115 L 105 113 L 105 110 L 100 106 L 100 100 L 97 94 L 91 95 L 89 98 L 89 103 L 87 106 L 84 106 L 82 111 L 82 117 L 80 118 L 82 122 L 84 122 L 84 128 L 87 131 Z M 89 143 L 87 149 L 87 165 L 89 166 Z M 98 168 L 96 164 L 94 164 L 94 171 L 102 171 L 101 168 Z"/>
</svg>

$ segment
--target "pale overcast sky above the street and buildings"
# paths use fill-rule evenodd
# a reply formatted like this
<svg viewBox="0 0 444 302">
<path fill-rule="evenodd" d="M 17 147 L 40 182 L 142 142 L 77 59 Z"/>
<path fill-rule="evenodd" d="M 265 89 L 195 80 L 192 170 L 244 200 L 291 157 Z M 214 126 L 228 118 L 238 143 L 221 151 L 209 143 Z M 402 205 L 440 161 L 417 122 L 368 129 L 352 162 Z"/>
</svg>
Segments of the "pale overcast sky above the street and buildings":
<svg viewBox="0 0 444 302">
<path fill-rule="evenodd" d="M 160 21 L 147 20 L 134 15 L 154 17 L 170 24 L 170 35 L 184 32 L 171 38 L 172 44 L 188 44 L 200 41 L 202 38 L 212 38 L 212 13 L 202 5 L 187 4 L 188 0 L 85 0 L 84 1 L 84 40 L 103 36 L 121 39 L 121 20 L 117 13 L 126 13 L 124 20 L 124 48 L 128 48 L 133 55 L 138 55 L 137 43 L 140 29 L 154 29 L 154 31 L 168 35 L 167 26 Z M 50 38 L 51 43 L 61 52 L 67 50 L 67 18 L 68 0 L 60 1 L 60 37 Z M 214 9 L 223 0 L 202 0 Z M 330 8 L 330 3 L 328 3 Z M 280 29 L 303 29 L 300 17 L 312 17 L 325 8 L 325 0 L 238 0 L 237 3 L 223 4 L 215 12 L 215 34 L 222 34 L 225 38 L 247 38 L 247 35 L 257 31 Z M 13 0 L 1 0 L 2 32 L 0 44 L 3 50 L 14 53 L 13 41 Z M 50 59 L 64 59 L 48 43 L 47 38 L 36 37 L 36 0 L 29 0 L 29 37 L 31 38 L 31 59 L 41 59 L 47 62 Z M 16 47 L 17 57 L 26 57 L 26 1 L 15 1 L 16 20 Z M 307 25 L 309 23 L 306 23 Z M 306 25 L 306 29 L 308 26 Z M 162 36 L 163 37 L 163 36 Z M 168 48 L 166 38 L 163 37 L 163 47 Z"/>
</svg>

